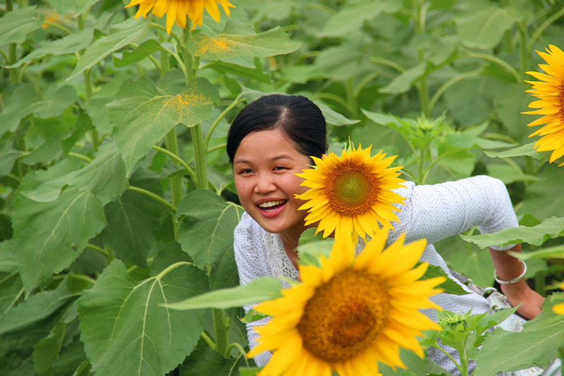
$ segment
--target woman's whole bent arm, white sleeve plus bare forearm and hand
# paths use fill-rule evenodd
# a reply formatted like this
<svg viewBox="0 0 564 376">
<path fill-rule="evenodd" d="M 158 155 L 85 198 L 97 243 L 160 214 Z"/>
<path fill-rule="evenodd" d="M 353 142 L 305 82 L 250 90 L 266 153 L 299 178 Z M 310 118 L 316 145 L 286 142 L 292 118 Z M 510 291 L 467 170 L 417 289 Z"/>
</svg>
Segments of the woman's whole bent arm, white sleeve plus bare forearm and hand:
<svg viewBox="0 0 564 376">
<path fill-rule="evenodd" d="M 405 191 L 409 204 L 398 214 L 400 224 L 396 233 L 407 232 L 407 241 L 427 238 L 429 243 L 434 243 L 474 226 L 479 226 L 482 234 L 489 234 L 519 225 L 505 184 L 490 176 L 416 186 Z M 403 209 L 401 205 L 400 209 Z M 515 279 L 523 272 L 522 263 L 509 255 L 507 248 L 521 250 L 520 245 L 490 248 L 498 279 L 502 281 Z M 544 299 L 529 288 L 525 279 L 502 284 L 501 291 L 511 305 L 522 304 L 517 312 L 524 317 L 531 319 L 539 314 Z"/>
</svg>

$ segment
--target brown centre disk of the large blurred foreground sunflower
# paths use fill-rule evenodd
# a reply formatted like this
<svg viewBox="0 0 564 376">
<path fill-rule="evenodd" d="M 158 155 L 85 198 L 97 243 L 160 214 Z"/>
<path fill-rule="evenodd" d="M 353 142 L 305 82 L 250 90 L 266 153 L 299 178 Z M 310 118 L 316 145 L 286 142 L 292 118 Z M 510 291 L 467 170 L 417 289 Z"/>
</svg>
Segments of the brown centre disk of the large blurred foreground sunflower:
<svg viewBox="0 0 564 376">
<path fill-rule="evenodd" d="M 378 276 L 348 269 L 317 288 L 298 330 L 312 355 L 342 362 L 374 343 L 389 309 L 390 298 Z"/>
</svg>

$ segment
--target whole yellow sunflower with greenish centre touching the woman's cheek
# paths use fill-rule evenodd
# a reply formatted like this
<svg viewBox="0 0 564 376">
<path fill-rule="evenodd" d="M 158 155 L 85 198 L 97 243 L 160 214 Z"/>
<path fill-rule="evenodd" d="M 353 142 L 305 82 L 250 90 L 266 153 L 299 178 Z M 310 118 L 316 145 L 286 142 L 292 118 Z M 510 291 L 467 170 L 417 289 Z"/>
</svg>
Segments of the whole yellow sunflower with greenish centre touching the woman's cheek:
<svg viewBox="0 0 564 376">
<path fill-rule="evenodd" d="M 382 226 L 393 229 L 390 221 L 398 222 L 393 204 L 404 198 L 393 192 L 404 180 L 398 178 L 402 166 L 388 168 L 396 156 L 386 157 L 379 152 L 370 157 L 372 145 L 362 150 L 361 145 L 350 152 L 343 150 L 341 157 L 329 153 L 324 159 L 312 157 L 317 168 L 306 169 L 302 186 L 309 187 L 296 198 L 308 200 L 300 210 L 309 209 L 305 225 L 319 221 L 317 232 L 323 237 L 335 231 L 335 238 L 353 234 L 364 239 L 365 234 L 374 236 Z"/>
</svg>

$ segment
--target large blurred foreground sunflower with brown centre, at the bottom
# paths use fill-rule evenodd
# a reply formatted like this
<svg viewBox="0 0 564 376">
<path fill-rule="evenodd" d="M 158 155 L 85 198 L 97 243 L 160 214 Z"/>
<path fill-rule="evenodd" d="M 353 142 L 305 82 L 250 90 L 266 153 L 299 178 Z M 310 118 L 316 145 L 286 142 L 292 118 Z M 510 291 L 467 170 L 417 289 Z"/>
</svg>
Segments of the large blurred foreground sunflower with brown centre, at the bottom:
<svg viewBox="0 0 564 376">
<path fill-rule="evenodd" d="M 403 245 L 402 235 L 383 252 L 387 236 L 379 231 L 356 258 L 350 237 L 336 241 L 321 267 L 300 267 L 301 284 L 255 308 L 271 316 L 248 355 L 273 351 L 259 376 L 378 375 L 377 362 L 405 367 L 400 347 L 424 355 L 416 336 L 440 327 L 419 310 L 441 309 L 429 296 L 445 279 L 418 281 L 424 239 Z"/>
</svg>

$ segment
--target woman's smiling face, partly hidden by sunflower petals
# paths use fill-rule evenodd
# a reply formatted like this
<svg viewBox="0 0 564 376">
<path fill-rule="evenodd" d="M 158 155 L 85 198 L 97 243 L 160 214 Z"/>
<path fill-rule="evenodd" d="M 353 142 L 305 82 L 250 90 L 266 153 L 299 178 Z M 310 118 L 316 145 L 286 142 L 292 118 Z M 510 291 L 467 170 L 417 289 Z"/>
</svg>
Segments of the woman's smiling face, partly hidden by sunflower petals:
<svg viewBox="0 0 564 376">
<path fill-rule="evenodd" d="M 295 174 L 311 163 L 279 129 L 250 133 L 233 158 L 241 205 L 266 231 L 299 237 L 307 211 L 298 210 L 304 201 L 295 195 L 308 188 L 300 186 L 303 179 Z"/>
</svg>

